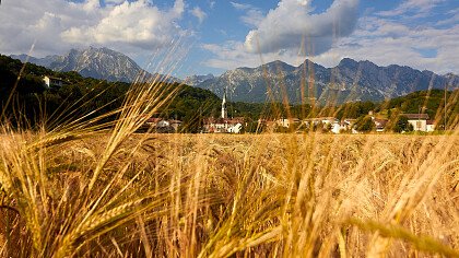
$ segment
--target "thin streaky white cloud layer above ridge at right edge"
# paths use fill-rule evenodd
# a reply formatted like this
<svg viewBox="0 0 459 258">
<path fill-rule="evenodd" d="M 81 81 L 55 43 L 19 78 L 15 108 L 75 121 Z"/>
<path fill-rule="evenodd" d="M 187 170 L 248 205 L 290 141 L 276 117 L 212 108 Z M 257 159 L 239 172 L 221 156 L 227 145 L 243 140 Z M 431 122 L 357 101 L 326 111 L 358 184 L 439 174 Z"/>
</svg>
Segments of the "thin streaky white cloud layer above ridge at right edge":
<svg viewBox="0 0 459 258">
<path fill-rule="evenodd" d="M 315 60 L 325 66 L 336 66 L 342 58 L 350 57 L 380 66 L 396 63 L 440 74 L 459 73 L 458 42 L 459 25 L 412 27 L 386 19 L 363 17 L 353 36 L 341 40 Z M 435 55 L 425 55 L 423 49 Z"/>
</svg>

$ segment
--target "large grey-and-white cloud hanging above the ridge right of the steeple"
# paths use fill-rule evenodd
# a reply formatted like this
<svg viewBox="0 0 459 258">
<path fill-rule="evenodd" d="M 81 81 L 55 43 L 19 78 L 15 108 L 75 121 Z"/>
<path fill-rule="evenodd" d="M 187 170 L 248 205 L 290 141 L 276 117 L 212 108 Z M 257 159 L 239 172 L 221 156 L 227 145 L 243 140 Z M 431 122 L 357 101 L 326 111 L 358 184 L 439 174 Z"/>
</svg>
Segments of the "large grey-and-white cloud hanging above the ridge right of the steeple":
<svg viewBox="0 0 459 258">
<path fill-rule="evenodd" d="M 298 66 L 306 55 L 322 54 L 338 38 L 352 33 L 357 20 L 357 0 L 336 0 L 326 12 L 311 14 L 309 1 L 282 0 L 266 16 L 254 22 L 245 21 L 257 25 L 245 43 L 233 40 L 203 45 L 203 49 L 214 55 L 204 64 L 234 69 L 282 60 Z M 232 2 L 232 5 L 246 12 L 243 21 L 250 10 L 257 10 L 250 4 Z"/>
</svg>

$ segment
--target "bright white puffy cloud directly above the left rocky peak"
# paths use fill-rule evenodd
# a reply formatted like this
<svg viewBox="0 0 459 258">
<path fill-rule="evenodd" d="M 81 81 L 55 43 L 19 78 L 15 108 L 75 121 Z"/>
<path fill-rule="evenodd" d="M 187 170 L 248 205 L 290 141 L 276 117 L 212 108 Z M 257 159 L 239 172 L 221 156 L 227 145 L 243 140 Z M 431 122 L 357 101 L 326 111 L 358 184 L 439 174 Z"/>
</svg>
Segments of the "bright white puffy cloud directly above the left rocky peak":
<svg viewBox="0 0 459 258">
<path fill-rule="evenodd" d="M 162 11 L 146 0 L 139 0 L 126 1 L 108 10 L 98 9 L 103 12 L 102 19 L 91 25 L 71 26 L 61 33 L 61 38 L 78 44 L 122 42 L 141 48 L 164 46 L 170 42 L 170 32 L 178 30 L 174 21 L 181 16 L 185 7 L 183 0 L 178 0 L 174 8 Z"/>
</svg>

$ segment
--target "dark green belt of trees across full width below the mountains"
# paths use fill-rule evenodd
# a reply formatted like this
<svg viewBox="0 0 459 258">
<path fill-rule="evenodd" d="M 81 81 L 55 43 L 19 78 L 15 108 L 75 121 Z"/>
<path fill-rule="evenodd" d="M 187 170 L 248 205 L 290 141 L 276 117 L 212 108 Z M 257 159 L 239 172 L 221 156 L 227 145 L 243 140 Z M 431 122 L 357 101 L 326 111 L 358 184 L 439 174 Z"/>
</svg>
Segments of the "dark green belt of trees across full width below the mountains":
<svg viewBox="0 0 459 258">
<path fill-rule="evenodd" d="M 47 89 L 43 81 L 45 75 L 60 78 L 64 82 L 63 86 Z M 204 118 L 220 116 L 221 98 L 212 92 L 179 84 L 164 83 L 164 86 L 180 89 L 174 99 L 161 108 L 156 116 L 181 120 L 185 125 L 183 131 L 197 132 Z M 7 118 L 13 126 L 52 128 L 87 114 L 91 114 L 86 117 L 90 119 L 119 108 L 129 87 L 129 83 L 83 78 L 76 72 L 56 72 L 33 63 L 24 66 L 19 60 L 0 55 L 0 106 L 4 115 L 2 119 Z M 431 119 L 443 122 L 445 110 L 447 117 L 457 117 L 459 114 L 457 97 L 457 91 L 446 92 L 446 109 L 445 92 L 432 90 L 382 103 L 355 102 L 339 106 L 237 102 L 228 103 L 227 112 L 229 117 L 244 117 L 248 122 L 256 122 L 259 118 L 282 117 L 360 118 L 370 110 L 388 119 L 402 113 L 426 113 Z M 114 119 L 115 116 L 105 118 Z"/>
</svg>

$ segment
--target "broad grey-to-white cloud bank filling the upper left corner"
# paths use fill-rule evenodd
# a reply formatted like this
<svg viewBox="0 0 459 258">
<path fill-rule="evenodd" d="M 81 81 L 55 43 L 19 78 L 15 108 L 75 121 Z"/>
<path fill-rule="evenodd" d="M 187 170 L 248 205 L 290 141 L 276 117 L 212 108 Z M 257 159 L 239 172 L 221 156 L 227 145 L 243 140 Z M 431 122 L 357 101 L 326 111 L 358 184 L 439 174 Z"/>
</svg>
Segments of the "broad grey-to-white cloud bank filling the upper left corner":
<svg viewBox="0 0 459 258">
<path fill-rule="evenodd" d="M 0 51 L 26 52 L 35 39 L 38 56 L 89 45 L 152 50 L 186 33 L 177 25 L 185 12 L 184 0 L 176 0 L 167 9 L 160 9 L 150 0 L 104 3 L 8 1 L 1 7 Z"/>
</svg>

